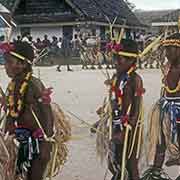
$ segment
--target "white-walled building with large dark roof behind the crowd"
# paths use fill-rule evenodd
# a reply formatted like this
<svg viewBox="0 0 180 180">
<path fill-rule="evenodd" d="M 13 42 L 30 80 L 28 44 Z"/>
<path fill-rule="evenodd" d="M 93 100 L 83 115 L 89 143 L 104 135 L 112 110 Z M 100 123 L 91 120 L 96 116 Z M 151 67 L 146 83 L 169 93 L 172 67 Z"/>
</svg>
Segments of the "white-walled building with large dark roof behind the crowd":
<svg viewBox="0 0 180 180">
<path fill-rule="evenodd" d="M 104 35 L 109 23 L 117 20 L 114 31 L 124 26 L 126 32 L 144 28 L 123 0 L 0 0 L 17 24 L 13 36 L 29 32 L 34 39 L 49 36 L 73 36 L 85 29 Z M 108 17 L 108 18 L 107 18 Z"/>
</svg>

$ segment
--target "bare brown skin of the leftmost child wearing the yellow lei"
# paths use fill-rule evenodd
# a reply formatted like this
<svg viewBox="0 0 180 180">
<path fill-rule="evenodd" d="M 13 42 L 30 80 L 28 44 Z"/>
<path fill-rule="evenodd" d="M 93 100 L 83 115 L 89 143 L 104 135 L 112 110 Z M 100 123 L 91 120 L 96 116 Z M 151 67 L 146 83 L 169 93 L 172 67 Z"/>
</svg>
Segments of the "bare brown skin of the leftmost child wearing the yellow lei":
<svg viewBox="0 0 180 180">
<path fill-rule="evenodd" d="M 6 55 L 5 59 L 5 69 L 7 75 L 12 79 L 16 79 L 17 84 L 20 83 L 29 65 L 26 62 L 17 60 L 11 55 Z M 30 85 L 31 88 L 28 89 L 27 95 L 25 96 L 25 110 L 17 120 L 18 125 L 26 126 L 32 132 L 39 128 L 34 116 L 32 115 L 32 108 L 38 117 L 38 120 L 42 125 L 46 135 L 51 137 L 53 135 L 53 114 L 50 104 L 44 104 L 37 101 L 37 99 L 41 98 L 45 87 L 39 79 L 34 77 L 32 77 Z M 9 131 L 12 134 L 14 133 L 14 123 L 11 121 L 11 119 L 7 119 L 6 131 Z M 32 166 L 28 172 L 27 180 L 43 179 L 43 174 L 45 172 L 47 163 L 50 160 L 50 152 L 51 144 L 46 141 L 41 142 L 40 155 L 37 159 L 32 161 Z"/>
</svg>

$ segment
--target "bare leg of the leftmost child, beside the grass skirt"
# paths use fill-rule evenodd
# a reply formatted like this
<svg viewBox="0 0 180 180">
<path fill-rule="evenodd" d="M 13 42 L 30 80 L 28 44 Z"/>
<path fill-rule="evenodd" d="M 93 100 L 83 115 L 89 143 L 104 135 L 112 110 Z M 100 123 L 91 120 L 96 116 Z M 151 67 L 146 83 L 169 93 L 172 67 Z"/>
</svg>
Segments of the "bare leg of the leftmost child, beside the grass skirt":
<svg viewBox="0 0 180 180">
<path fill-rule="evenodd" d="M 32 161 L 27 180 L 43 180 L 43 175 L 50 160 L 50 152 L 51 144 L 48 142 L 41 142 L 40 155 L 37 159 Z"/>
</svg>

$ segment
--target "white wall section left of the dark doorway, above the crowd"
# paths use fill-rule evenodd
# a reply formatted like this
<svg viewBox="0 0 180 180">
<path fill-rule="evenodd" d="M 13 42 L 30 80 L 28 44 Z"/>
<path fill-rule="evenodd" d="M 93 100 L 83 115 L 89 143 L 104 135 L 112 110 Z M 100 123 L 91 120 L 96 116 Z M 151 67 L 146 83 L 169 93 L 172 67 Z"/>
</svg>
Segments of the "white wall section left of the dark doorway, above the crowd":
<svg viewBox="0 0 180 180">
<path fill-rule="evenodd" d="M 31 36 L 33 40 L 40 38 L 44 39 L 44 35 L 47 34 L 49 39 L 52 40 L 52 36 L 59 37 L 63 36 L 62 27 L 33 27 L 31 28 Z"/>
</svg>

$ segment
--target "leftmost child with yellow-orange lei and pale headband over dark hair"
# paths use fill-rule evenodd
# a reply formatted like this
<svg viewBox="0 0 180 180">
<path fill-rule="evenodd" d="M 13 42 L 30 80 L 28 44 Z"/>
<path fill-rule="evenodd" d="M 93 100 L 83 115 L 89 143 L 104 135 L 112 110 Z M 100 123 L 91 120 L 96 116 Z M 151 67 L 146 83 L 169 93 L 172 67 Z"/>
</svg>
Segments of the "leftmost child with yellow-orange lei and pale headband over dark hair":
<svg viewBox="0 0 180 180">
<path fill-rule="evenodd" d="M 19 142 L 16 173 L 27 171 L 27 180 L 42 180 L 52 151 L 52 144 L 44 137 L 54 134 L 51 92 L 32 75 L 34 53 L 30 44 L 15 43 L 4 57 L 5 70 L 11 78 L 5 106 L 5 133 L 14 134 Z"/>
</svg>

